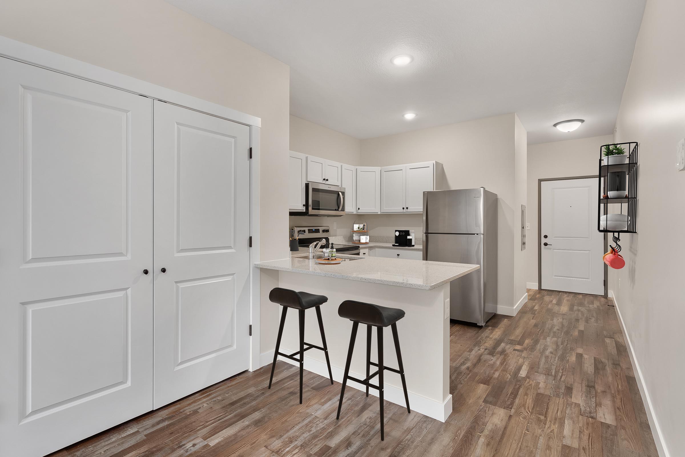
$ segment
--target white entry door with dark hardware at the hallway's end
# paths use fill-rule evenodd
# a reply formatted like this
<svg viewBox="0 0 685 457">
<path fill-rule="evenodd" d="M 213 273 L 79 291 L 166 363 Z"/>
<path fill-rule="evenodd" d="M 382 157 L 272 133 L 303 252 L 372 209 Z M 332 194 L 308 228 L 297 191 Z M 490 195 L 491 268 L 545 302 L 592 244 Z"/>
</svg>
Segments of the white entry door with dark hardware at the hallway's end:
<svg viewBox="0 0 685 457">
<path fill-rule="evenodd" d="M 540 184 L 540 288 L 604 294 L 604 237 L 596 178 Z M 547 245 L 545 245 L 547 243 Z"/>
</svg>

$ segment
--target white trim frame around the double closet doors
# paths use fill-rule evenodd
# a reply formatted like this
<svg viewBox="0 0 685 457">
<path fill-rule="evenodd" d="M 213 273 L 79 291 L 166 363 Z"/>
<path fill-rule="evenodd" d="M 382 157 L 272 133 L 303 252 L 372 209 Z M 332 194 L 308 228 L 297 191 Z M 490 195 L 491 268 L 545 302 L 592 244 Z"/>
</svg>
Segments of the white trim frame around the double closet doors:
<svg viewBox="0 0 685 457">
<path fill-rule="evenodd" d="M 252 336 L 250 340 L 250 371 L 260 367 L 260 273 L 254 267 L 260 261 L 260 132 L 262 120 L 256 116 L 226 108 L 197 97 L 191 97 L 182 92 L 167 89 L 149 82 L 142 81 L 116 71 L 103 69 L 93 64 L 66 57 L 52 51 L 0 36 L 0 57 L 24 62 L 40 68 L 63 73 L 86 81 L 96 82 L 119 90 L 125 90 L 150 99 L 165 101 L 189 110 L 210 114 L 227 121 L 237 122 L 250 127 L 250 147 L 252 160 L 250 161 L 250 234 L 252 249 L 250 249 L 250 324 Z M 247 242 L 247 240 L 246 240 Z"/>
</svg>

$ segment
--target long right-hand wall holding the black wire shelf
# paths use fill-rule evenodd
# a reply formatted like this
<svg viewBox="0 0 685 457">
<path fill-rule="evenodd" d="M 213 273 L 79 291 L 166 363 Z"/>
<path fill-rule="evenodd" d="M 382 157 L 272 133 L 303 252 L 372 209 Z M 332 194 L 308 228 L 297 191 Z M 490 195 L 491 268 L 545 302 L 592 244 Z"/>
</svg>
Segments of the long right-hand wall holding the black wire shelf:
<svg viewBox="0 0 685 457">
<path fill-rule="evenodd" d="M 640 143 L 638 234 L 621 236 L 626 264 L 609 274 L 658 423 L 654 439 L 671 457 L 685 456 L 685 171 L 675 171 L 685 137 L 683 17 L 682 0 L 647 1 L 615 136 Z"/>
</svg>

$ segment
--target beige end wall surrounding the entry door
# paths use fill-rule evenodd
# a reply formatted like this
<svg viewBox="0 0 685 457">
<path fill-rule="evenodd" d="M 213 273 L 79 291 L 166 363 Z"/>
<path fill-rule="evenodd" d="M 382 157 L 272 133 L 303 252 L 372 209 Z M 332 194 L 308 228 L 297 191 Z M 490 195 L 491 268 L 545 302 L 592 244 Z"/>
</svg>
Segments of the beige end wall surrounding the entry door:
<svg viewBox="0 0 685 457">
<path fill-rule="evenodd" d="M 528 145 L 527 220 L 530 230 L 527 230 L 524 251 L 525 281 L 528 284 L 538 284 L 538 180 L 597 175 L 599 147 L 609 143 L 613 143 L 612 135 Z"/>
</svg>

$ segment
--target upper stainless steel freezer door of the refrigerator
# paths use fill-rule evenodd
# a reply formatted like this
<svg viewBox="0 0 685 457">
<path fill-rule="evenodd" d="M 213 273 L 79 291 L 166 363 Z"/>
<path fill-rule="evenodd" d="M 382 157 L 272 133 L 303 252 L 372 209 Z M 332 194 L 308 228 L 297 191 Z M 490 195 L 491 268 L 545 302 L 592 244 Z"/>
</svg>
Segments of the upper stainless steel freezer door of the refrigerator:
<svg viewBox="0 0 685 457">
<path fill-rule="evenodd" d="M 424 233 L 483 233 L 484 189 L 423 193 Z"/>
</svg>

